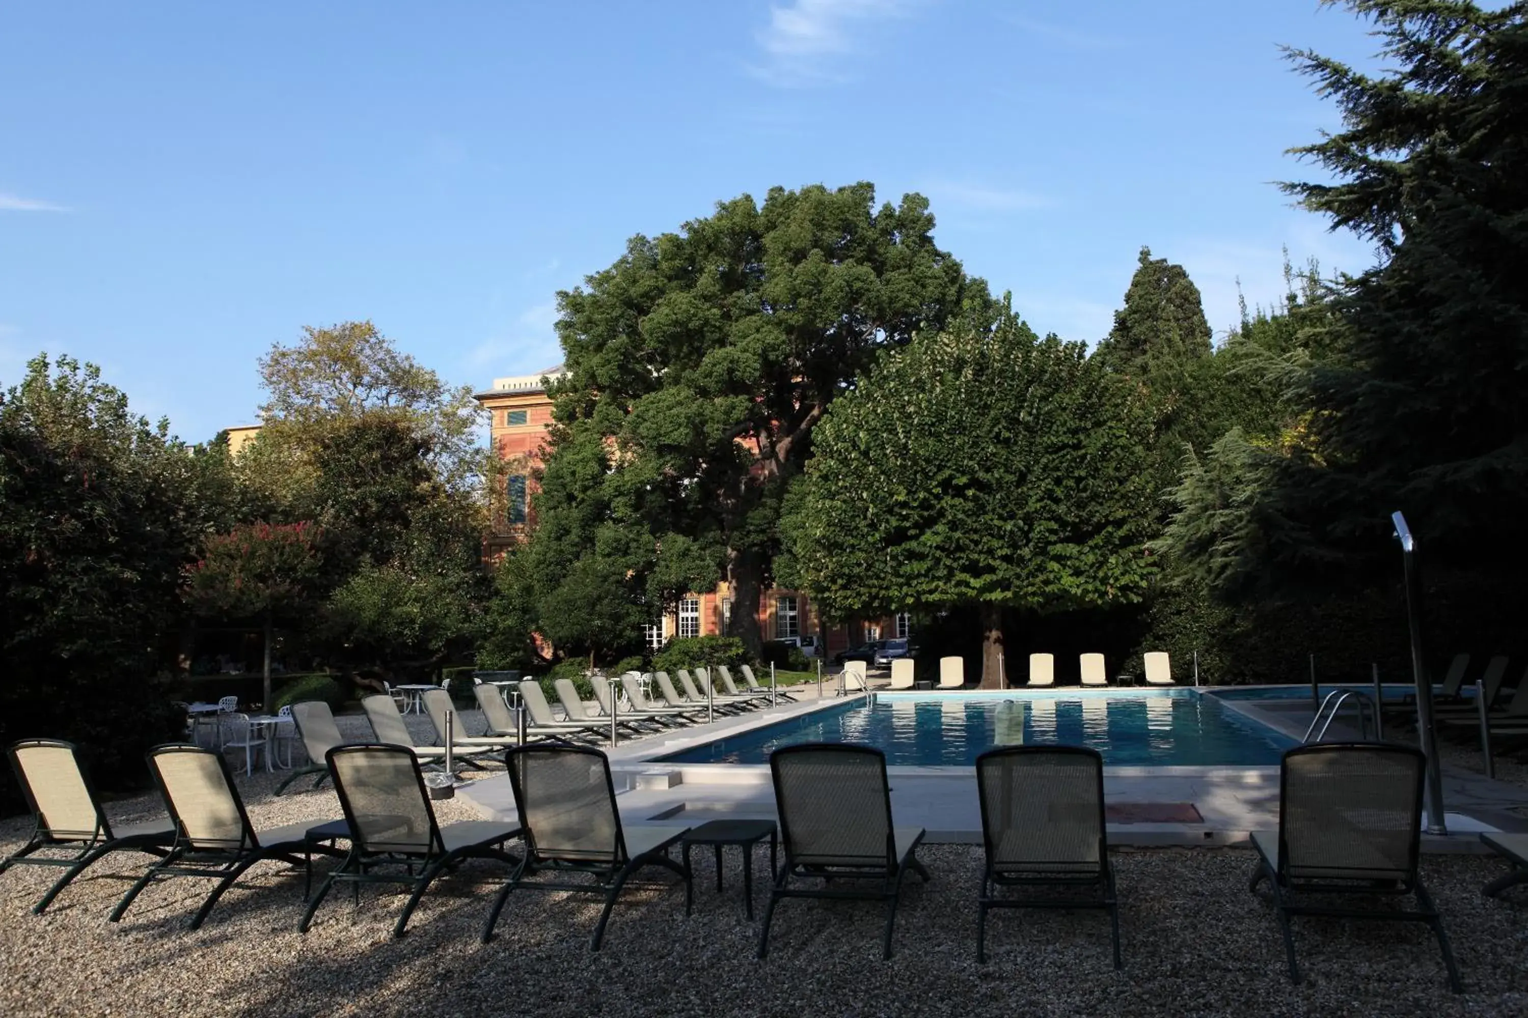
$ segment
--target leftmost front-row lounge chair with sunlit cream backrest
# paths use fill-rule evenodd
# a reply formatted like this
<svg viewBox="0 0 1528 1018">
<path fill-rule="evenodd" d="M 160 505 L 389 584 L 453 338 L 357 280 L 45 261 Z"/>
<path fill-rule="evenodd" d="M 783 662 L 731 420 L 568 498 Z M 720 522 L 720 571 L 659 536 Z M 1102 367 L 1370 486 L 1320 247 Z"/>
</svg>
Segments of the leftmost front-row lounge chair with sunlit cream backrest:
<svg viewBox="0 0 1528 1018">
<path fill-rule="evenodd" d="M 0 873 L 12 865 L 63 867 L 64 873 L 47 888 L 32 913 L 41 916 L 70 881 L 108 852 L 136 850 L 165 856 L 176 839 L 168 817 L 142 824 L 112 824 L 101 809 L 90 778 L 73 745 L 57 739 L 24 739 L 11 746 L 11 766 L 32 809 L 32 836 L 0 859 Z M 34 855 L 72 850 L 73 855 Z"/>
</svg>

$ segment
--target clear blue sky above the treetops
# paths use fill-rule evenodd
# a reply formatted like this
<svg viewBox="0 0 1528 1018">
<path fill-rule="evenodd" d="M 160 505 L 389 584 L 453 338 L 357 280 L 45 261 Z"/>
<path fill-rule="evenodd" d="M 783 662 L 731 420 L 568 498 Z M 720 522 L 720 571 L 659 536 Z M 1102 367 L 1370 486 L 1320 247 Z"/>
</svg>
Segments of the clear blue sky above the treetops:
<svg viewBox="0 0 1528 1018">
<path fill-rule="evenodd" d="M 481 389 L 633 234 L 816 182 L 927 194 L 1042 333 L 1103 336 L 1141 244 L 1221 333 L 1280 247 L 1369 259 L 1271 183 L 1337 127 L 1279 43 L 1374 50 L 1314 0 L 12 5 L 0 385 L 69 353 L 197 441 L 370 317 Z"/>
</svg>

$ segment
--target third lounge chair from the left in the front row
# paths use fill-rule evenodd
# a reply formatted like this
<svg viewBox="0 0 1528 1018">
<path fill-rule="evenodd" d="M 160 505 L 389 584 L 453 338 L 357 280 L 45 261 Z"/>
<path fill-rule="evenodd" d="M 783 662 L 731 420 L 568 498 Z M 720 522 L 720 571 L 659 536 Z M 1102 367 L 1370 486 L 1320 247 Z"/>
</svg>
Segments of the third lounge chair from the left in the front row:
<svg viewBox="0 0 1528 1018">
<path fill-rule="evenodd" d="M 518 824 L 435 823 L 419 760 L 405 746 L 338 746 L 329 751 L 329 771 L 350 827 L 350 853 L 309 902 L 298 923 L 301 933 L 307 933 L 313 913 L 338 882 L 351 884 L 358 893 L 361 884 L 411 884 L 413 893 L 393 926 L 393 936 L 402 937 L 419 899 L 443 870 L 463 859 L 520 864 L 503 847 L 520 836 Z"/>
</svg>

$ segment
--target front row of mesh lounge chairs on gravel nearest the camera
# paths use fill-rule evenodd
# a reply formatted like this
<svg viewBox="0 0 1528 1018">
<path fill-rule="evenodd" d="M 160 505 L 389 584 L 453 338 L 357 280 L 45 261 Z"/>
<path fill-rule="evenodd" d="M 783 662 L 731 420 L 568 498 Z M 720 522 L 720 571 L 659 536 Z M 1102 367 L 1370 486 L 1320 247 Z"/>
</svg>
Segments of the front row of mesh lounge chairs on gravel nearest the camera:
<svg viewBox="0 0 1528 1018">
<path fill-rule="evenodd" d="M 394 925 L 394 936 L 403 936 L 435 876 L 466 858 L 497 859 L 512 867 L 484 920 L 484 942 L 492 939 L 512 891 L 573 890 L 605 897 L 590 942 L 597 951 L 611 907 L 626 879 L 643 865 L 677 873 L 686 885 L 686 914 L 692 907 L 689 864 L 668 855 L 681 842 L 686 827 L 623 826 L 608 760 L 590 746 L 544 743 L 507 751 L 504 763 L 520 823 L 446 826 L 435 821 L 414 749 L 382 743 L 335 746 L 325 754 L 325 765 L 344 818 L 266 830 L 251 824 L 226 762 L 211 749 L 168 745 L 151 751 L 150 765 L 170 817 L 134 829 L 112 827 L 69 743 L 26 740 L 12 746 L 11 757 L 37 826 L 28 844 L 0 862 L 0 873 L 17 864 L 66 870 L 37 904 L 37 913 L 93 861 L 122 849 L 159 859 L 116 905 L 112 922 L 121 920 L 154 881 L 215 878 L 219 882 L 191 920 L 197 928 L 241 873 L 270 858 L 307 871 L 309 900 L 299 922 L 304 933 L 336 884 L 402 881 L 413 888 Z M 889 958 L 903 879 L 914 873 L 927 881 L 931 875 L 917 859 L 923 829 L 894 823 L 885 755 L 868 746 L 798 745 L 776 749 L 770 771 L 785 862 L 775 873 L 758 955 L 767 955 L 781 900 L 869 897 L 886 907 L 882 946 Z M 1438 937 L 1449 983 L 1456 992 L 1461 989 L 1441 917 L 1418 875 L 1424 771 L 1420 751 L 1387 743 L 1319 743 L 1285 754 L 1279 829 L 1253 833 L 1258 862 L 1250 888 L 1264 882 L 1271 888 L 1291 980 L 1299 981 L 1300 972 L 1290 917 L 1325 914 L 1429 925 Z M 993 749 L 976 762 L 976 788 L 986 850 L 976 899 L 978 958 L 986 960 L 992 908 L 1094 907 L 1109 913 L 1118 968 L 1118 900 L 1105 829 L 1102 757 L 1077 746 Z M 348 852 L 336 849 L 336 841 L 348 841 Z M 518 841 L 518 852 L 506 847 L 510 841 Z M 1485 893 L 1528 881 L 1528 836 L 1488 835 L 1485 841 L 1514 862 L 1513 871 Z M 35 855 L 44 849 L 67 849 L 75 855 Z M 310 896 L 315 853 L 341 862 Z M 539 875 L 553 879 L 532 879 Z M 585 879 L 564 879 L 571 875 Z M 860 890 L 854 882 L 868 888 Z M 1041 887 L 1083 894 L 1056 899 L 1002 893 Z M 1306 902 L 1306 897 L 1314 902 L 1354 893 L 1412 896 L 1416 908 L 1343 910 Z"/>
</svg>

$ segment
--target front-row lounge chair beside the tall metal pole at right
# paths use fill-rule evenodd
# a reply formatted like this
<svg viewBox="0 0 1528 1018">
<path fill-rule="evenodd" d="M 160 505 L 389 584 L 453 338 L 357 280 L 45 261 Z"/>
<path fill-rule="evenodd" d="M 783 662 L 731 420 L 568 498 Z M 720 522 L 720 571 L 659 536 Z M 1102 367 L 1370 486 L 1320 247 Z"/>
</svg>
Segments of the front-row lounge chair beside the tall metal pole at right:
<svg viewBox="0 0 1528 1018">
<path fill-rule="evenodd" d="M 1300 969 L 1290 916 L 1390 919 L 1432 926 L 1449 986 L 1462 992 L 1438 908 L 1416 873 L 1424 774 L 1421 751 L 1390 743 L 1322 743 L 1284 754 L 1279 830 L 1251 833 L 1259 859 L 1248 888 L 1268 881 L 1273 890 L 1291 981 L 1300 981 Z M 1306 894 L 1415 894 L 1418 908 L 1345 910 L 1294 900 Z"/>
</svg>

